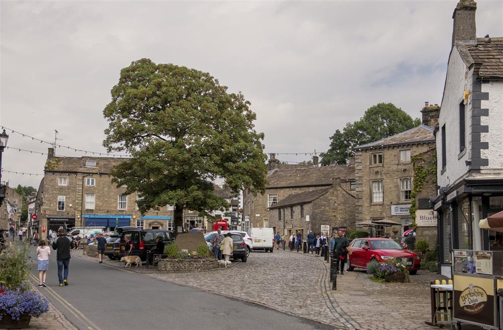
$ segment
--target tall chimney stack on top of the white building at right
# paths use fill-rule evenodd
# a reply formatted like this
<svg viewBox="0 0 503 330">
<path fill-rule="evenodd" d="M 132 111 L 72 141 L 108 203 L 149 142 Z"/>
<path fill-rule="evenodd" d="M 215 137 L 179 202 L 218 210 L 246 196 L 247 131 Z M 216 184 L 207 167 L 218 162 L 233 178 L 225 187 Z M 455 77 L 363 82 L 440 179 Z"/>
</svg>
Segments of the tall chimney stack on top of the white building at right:
<svg viewBox="0 0 503 330">
<path fill-rule="evenodd" d="M 477 40 L 475 29 L 475 11 L 477 4 L 473 0 L 459 0 L 452 18 L 454 25 L 452 29 L 452 46 L 456 41 Z"/>
</svg>

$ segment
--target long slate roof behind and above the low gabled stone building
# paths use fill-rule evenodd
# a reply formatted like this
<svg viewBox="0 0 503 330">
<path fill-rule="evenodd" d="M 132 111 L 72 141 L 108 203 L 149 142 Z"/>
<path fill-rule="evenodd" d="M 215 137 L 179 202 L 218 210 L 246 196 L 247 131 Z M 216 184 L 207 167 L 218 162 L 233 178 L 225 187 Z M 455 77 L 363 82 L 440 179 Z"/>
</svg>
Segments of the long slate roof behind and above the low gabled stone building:
<svg viewBox="0 0 503 330">
<path fill-rule="evenodd" d="M 348 165 L 310 166 L 273 172 L 266 188 L 328 186 L 333 180 L 354 180 L 355 167 Z"/>
</svg>

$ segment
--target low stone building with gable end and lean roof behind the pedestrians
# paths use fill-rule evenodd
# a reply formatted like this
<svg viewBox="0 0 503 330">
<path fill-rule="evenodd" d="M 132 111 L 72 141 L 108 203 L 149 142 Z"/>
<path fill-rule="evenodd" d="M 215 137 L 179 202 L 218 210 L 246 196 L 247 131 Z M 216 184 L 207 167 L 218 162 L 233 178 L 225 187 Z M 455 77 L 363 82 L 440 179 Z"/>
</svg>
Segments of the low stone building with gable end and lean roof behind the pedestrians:
<svg viewBox="0 0 503 330">
<path fill-rule="evenodd" d="M 326 188 L 288 195 L 269 207 L 269 227 L 288 236 L 297 231 L 304 235 L 309 230 L 330 234 L 339 227 L 353 231 L 355 195 L 345 185 L 335 178 Z"/>
</svg>

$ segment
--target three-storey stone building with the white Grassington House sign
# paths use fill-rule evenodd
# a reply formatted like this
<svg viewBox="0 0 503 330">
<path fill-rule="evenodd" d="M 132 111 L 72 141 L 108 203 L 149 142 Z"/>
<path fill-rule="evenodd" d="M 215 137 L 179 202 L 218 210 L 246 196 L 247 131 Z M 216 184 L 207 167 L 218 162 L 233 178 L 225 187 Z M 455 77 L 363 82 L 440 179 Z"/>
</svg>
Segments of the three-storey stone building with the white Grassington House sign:
<svg viewBox="0 0 503 330">
<path fill-rule="evenodd" d="M 412 201 L 414 156 L 435 148 L 434 126 L 438 105 L 423 108 L 423 125 L 388 138 L 355 148 L 356 221 L 393 221 L 396 226 L 369 227 L 375 237 L 401 235 L 412 229 L 414 217 L 409 214 Z M 423 204 L 422 204 L 423 205 Z M 435 228 L 435 224 L 429 227 Z M 361 228 L 366 231 L 367 227 Z M 436 234 L 426 231 L 427 239 Z M 420 238 L 420 237 L 418 237 Z"/>
</svg>

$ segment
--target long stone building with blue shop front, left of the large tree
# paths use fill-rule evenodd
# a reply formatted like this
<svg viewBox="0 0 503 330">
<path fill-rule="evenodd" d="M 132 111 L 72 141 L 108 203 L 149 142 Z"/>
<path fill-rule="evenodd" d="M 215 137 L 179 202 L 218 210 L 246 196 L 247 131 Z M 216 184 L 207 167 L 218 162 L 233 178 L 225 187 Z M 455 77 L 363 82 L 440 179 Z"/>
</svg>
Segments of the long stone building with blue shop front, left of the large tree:
<svg viewBox="0 0 503 330">
<path fill-rule="evenodd" d="M 35 201 L 33 226 L 42 237 L 72 227 L 134 226 L 173 230 L 173 207 L 166 205 L 141 215 L 138 195 L 125 195 L 111 182 L 112 167 L 124 161 L 111 157 L 56 157 L 49 148 L 44 178 Z"/>
</svg>

